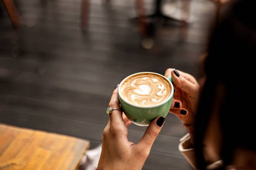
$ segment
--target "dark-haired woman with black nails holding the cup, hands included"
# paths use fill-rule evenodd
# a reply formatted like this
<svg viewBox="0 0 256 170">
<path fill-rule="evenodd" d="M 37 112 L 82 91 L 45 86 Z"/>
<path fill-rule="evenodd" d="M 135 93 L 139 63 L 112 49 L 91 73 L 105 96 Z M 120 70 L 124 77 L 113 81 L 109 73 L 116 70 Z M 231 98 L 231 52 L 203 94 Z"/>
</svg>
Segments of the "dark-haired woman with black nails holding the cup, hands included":
<svg viewBox="0 0 256 170">
<path fill-rule="evenodd" d="M 255 85 L 256 20 L 254 0 L 241 0 L 230 7 L 215 28 L 205 60 L 205 83 L 191 75 L 168 69 L 175 93 L 170 112 L 184 123 L 189 135 L 179 150 L 196 169 L 256 170 Z M 201 94 L 201 95 L 200 95 Z M 109 106 L 118 108 L 117 89 Z M 113 110 L 102 138 L 97 170 L 140 170 L 164 124 L 156 117 L 138 144 L 127 139 L 131 124 Z M 168 169 L 168 167 L 166 167 Z"/>
</svg>

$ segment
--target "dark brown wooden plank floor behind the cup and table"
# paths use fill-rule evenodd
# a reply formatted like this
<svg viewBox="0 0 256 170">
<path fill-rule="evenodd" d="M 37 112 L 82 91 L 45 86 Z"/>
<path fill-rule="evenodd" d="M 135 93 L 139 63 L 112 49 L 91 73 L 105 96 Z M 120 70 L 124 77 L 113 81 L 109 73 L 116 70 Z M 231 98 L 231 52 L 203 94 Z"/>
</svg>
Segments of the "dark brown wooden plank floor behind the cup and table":
<svg viewBox="0 0 256 170">
<path fill-rule="evenodd" d="M 186 1 L 186 0 L 184 0 Z M 99 145 L 105 108 L 117 83 L 135 72 L 164 74 L 168 67 L 199 77 L 214 5 L 191 0 L 187 32 L 159 27 L 155 46 L 141 47 L 134 0 L 90 1 L 89 23 L 80 28 L 81 0 L 15 0 L 23 25 L 13 29 L 0 2 L 0 122 L 72 135 Z M 145 0 L 152 13 L 153 0 Z M 185 30 L 185 29 L 183 29 Z M 131 125 L 138 142 L 144 127 Z M 189 170 L 179 153 L 182 123 L 167 115 L 144 170 Z"/>
</svg>

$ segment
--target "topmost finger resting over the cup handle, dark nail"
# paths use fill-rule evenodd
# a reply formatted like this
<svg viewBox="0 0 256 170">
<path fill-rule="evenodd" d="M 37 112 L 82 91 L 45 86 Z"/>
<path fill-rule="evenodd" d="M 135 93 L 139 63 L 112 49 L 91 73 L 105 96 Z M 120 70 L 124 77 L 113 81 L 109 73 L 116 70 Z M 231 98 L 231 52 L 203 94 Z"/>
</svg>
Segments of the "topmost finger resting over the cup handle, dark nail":
<svg viewBox="0 0 256 170">
<path fill-rule="evenodd" d="M 191 91 L 196 90 L 197 85 L 193 84 L 186 78 L 184 78 L 182 75 L 179 75 L 179 77 L 174 73 L 174 70 L 172 70 L 172 80 L 174 84 L 181 90 L 187 93 L 191 93 Z"/>
</svg>

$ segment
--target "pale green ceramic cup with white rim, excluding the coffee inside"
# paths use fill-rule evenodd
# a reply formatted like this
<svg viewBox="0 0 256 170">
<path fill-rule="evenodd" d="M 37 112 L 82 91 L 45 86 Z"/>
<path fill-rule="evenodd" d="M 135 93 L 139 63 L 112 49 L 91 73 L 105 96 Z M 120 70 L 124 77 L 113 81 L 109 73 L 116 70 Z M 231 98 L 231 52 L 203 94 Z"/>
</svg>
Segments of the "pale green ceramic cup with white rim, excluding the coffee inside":
<svg viewBox="0 0 256 170">
<path fill-rule="evenodd" d="M 121 96 L 120 87 L 122 86 L 124 80 L 126 80 L 128 77 L 136 75 L 136 74 L 141 74 L 141 73 L 156 74 L 156 75 L 159 75 L 159 76 L 165 78 L 166 80 L 168 80 L 168 82 L 172 86 L 172 92 L 169 95 L 169 97 L 166 100 L 164 100 L 163 102 L 161 102 L 157 105 L 144 106 L 144 107 L 134 105 L 134 104 L 132 104 L 128 101 L 125 101 L 124 98 Z M 136 125 L 148 126 L 150 124 L 150 122 L 152 120 L 154 120 L 156 117 L 158 117 L 158 116 L 166 117 L 166 115 L 168 114 L 168 112 L 171 108 L 172 100 L 173 100 L 174 87 L 172 85 L 172 77 L 166 78 L 163 75 L 160 75 L 160 74 L 155 73 L 155 72 L 138 72 L 138 73 L 135 73 L 133 75 L 129 75 L 128 77 L 126 77 L 120 83 L 120 85 L 118 87 L 119 102 L 122 106 L 122 109 L 123 109 L 125 115 L 128 117 L 128 119 L 130 119 L 131 122 L 133 122 Z"/>
</svg>

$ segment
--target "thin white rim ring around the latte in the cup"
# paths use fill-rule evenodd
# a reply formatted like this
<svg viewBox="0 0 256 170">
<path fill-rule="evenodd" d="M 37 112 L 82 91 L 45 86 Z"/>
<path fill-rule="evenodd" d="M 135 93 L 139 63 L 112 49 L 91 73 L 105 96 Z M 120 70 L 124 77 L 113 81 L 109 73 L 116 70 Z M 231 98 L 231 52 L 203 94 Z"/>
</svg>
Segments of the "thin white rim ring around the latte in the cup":
<svg viewBox="0 0 256 170">
<path fill-rule="evenodd" d="M 123 84 L 123 81 L 126 80 L 128 77 L 131 77 L 131 76 L 137 75 L 137 74 L 142 74 L 142 73 L 151 73 L 151 74 L 156 74 L 156 75 L 160 75 L 161 77 L 164 77 L 164 78 L 170 83 L 170 85 L 171 85 L 171 87 L 172 87 L 172 92 L 171 92 L 171 94 L 169 95 L 169 97 L 168 97 L 166 100 L 164 100 L 163 102 L 161 102 L 161 103 L 159 103 L 159 104 L 157 104 L 157 105 L 152 105 L 152 106 L 138 106 L 138 105 L 134 105 L 133 103 L 128 102 L 127 100 L 125 100 L 125 99 L 123 98 L 123 96 L 121 95 L 121 92 L 120 92 L 121 86 L 122 86 L 122 84 Z M 136 72 L 136 73 L 134 73 L 134 74 L 132 74 L 132 75 L 128 75 L 127 77 L 125 77 L 125 78 L 120 82 L 120 85 L 118 86 L 118 96 L 119 96 L 123 101 L 125 101 L 126 103 L 128 103 L 129 105 L 132 105 L 132 106 L 134 106 L 134 107 L 140 107 L 140 108 L 153 108 L 153 107 L 158 107 L 158 106 L 160 106 L 160 105 L 163 105 L 163 104 L 165 104 L 166 102 L 168 102 L 168 101 L 170 100 L 170 98 L 173 96 L 173 93 L 174 93 L 174 87 L 173 87 L 173 85 L 172 85 L 172 82 L 171 82 L 168 78 L 166 78 L 164 75 L 161 75 L 161 74 L 156 73 L 156 72 Z"/>
</svg>

